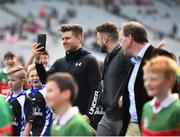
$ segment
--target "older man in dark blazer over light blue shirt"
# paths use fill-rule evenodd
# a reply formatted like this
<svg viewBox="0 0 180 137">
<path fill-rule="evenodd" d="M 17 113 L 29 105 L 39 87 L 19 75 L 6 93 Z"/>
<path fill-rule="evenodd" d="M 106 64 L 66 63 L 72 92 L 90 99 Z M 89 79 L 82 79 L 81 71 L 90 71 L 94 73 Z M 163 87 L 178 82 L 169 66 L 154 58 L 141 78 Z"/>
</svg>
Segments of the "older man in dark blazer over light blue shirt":
<svg viewBox="0 0 180 137">
<path fill-rule="evenodd" d="M 117 98 L 119 100 L 119 97 L 123 96 L 123 132 L 128 136 L 140 136 L 142 108 L 151 99 L 144 88 L 142 67 L 147 60 L 155 56 L 163 55 L 172 58 L 172 55 L 151 46 L 148 43 L 145 27 L 139 22 L 125 23 L 120 36 L 123 52 L 133 56 L 131 58 L 133 66 Z"/>
</svg>

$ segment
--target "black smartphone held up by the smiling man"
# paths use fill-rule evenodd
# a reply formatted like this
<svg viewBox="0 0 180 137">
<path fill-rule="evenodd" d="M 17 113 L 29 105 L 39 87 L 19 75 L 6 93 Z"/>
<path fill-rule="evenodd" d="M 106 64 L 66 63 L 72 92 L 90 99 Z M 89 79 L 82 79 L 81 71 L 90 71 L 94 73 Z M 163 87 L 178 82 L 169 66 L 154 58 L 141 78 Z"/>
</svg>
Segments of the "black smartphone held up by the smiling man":
<svg viewBox="0 0 180 137">
<path fill-rule="evenodd" d="M 40 51 L 45 52 L 46 50 L 46 34 L 38 34 L 37 43 L 41 43 L 39 47 L 43 47 Z"/>
</svg>

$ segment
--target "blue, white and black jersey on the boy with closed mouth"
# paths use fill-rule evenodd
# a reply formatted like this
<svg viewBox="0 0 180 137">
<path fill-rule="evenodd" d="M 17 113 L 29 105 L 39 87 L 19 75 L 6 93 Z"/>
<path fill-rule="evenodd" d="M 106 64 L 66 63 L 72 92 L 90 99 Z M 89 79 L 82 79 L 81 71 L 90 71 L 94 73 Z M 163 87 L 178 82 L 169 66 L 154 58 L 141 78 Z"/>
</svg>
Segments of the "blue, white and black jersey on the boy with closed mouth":
<svg viewBox="0 0 180 137">
<path fill-rule="evenodd" d="M 13 135 L 22 136 L 26 123 L 34 119 L 31 99 L 22 91 L 17 96 L 12 93 L 7 97 L 7 101 L 10 103 L 13 112 Z"/>
</svg>

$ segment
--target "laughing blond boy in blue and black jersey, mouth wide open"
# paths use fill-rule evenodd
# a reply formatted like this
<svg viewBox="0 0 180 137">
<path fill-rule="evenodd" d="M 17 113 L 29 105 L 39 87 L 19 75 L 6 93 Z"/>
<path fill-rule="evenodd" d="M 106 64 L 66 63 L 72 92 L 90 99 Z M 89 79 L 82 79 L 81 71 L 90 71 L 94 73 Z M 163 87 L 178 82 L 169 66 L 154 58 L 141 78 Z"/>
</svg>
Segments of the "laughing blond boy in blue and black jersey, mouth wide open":
<svg viewBox="0 0 180 137">
<path fill-rule="evenodd" d="M 40 82 L 35 64 L 31 64 L 27 69 L 28 80 L 32 88 L 27 91 L 33 102 L 33 115 L 35 119 L 32 123 L 33 136 L 49 136 L 50 125 L 52 123 L 52 112 L 46 104 L 45 94 L 47 89 Z"/>
</svg>

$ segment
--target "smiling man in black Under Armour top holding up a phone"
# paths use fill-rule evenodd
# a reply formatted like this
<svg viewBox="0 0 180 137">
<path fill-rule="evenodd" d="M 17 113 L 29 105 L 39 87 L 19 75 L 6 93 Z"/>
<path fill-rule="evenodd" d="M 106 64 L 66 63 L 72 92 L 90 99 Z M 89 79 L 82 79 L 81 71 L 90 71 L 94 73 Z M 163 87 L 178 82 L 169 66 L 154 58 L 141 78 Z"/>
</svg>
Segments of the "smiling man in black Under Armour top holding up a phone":
<svg viewBox="0 0 180 137">
<path fill-rule="evenodd" d="M 64 58 L 57 59 L 48 72 L 40 61 L 39 44 L 33 45 L 36 69 L 41 82 L 46 83 L 49 74 L 68 72 L 72 74 L 79 86 L 79 94 L 73 105 L 79 107 L 81 114 L 90 122 L 101 92 L 101 75 L 97 60 L 81 48 L 83 30 L 79 25 L 62 25 L 63 46 L 66 51 Z"/>
</svg>

